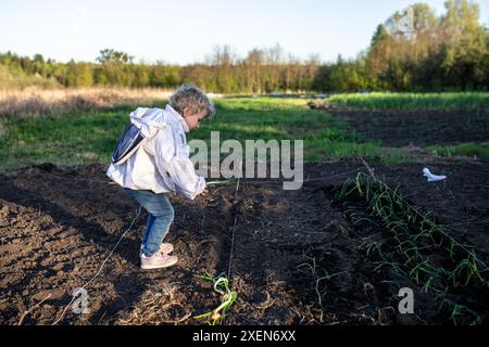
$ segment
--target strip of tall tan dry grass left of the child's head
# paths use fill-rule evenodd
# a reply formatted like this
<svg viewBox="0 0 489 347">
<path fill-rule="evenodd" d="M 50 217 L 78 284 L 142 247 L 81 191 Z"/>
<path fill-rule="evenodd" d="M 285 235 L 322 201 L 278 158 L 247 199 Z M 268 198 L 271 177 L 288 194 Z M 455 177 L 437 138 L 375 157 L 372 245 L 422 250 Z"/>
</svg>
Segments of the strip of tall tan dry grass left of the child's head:
<svg viewBox="0 0 489 347">
<path fill-rule="evenodd" d="M 163 101 L 172 91 L 145 88 L 0 90 L 0 117 L 36 117 Z"/>
</svg>

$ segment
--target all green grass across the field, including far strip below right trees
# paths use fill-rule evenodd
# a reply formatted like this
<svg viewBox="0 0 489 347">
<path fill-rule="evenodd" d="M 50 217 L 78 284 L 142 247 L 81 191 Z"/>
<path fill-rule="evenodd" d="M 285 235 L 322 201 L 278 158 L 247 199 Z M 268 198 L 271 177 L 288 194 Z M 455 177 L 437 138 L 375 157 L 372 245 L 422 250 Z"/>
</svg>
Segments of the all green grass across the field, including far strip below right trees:
<svg viewBox="0 0 489 347">
<path fill-rule="evenodd" d="M 330 102 L 363 110 L 391 108 L 484 108 L 489 93 L 468 94 L 355 94 L 334 95 Z M 111 151 L 128 120 L 127 115 L 139 105 L 164 107 L 165 100 L 133 100 L 122 105 L 93 103 L 86 110 L 72 106 L 50 108 L 23 117 L 18 110 L 9 115 L 3 106 L 0 118 L 0 169 L 51 162 L 62 165 L 108 163 Z M 449 145 L 432 144 L 416 153 L 409 149 L 383 145 L 376 139 L 361 139 L 346 121 L 318 110 L 310 110 L 304 99 L 234 98 L 215 99 L 217 114 L 192 131 L 188 140 L 210 141 L 211 131 L 220 131 L 221 139 L 303 139 L 304 158 L 309 162 L 365 156 L 373 162 L 400 164 L 418 159 L 419 155 L 438 157 L 489 157 L 488 143 L 466 142 Z M 23 104 L 22 107 L 25 107 Z M 21 107 L 21 110 L 22 110 Z M 90 108 L 90 107 L 89 107 Z M 469 112 L 469 111 L 467 111 Z M 489 120 L 487 121 L 489 128 Z"/>
</svg>

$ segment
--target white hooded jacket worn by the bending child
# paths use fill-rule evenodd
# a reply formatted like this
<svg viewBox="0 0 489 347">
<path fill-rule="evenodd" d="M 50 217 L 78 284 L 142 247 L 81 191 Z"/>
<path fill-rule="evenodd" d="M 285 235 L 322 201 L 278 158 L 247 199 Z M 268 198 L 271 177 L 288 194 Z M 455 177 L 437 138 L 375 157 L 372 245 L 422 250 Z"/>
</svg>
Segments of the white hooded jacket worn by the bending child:
<svg viewBox="0 0 489 347">
<path fill-rule="evenodd" d="M 111 164 L 106 175 L 117 184 L 154 193 L 177 192 L 193 200 L 205 188 L 196 175 L 184 118 L 170 105 L 165 110 L 138 107 L 130 115 L 146 142 L 123 164 Z"/>
</svg>

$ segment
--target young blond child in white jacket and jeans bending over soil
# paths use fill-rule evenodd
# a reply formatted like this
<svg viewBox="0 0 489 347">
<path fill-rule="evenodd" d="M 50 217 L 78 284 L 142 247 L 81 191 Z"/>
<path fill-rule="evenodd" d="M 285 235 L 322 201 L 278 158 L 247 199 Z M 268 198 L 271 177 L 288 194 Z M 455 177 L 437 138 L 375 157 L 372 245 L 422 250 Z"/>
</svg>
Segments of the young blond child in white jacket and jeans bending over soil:
<svg viewBox="0 0 489 347">
<path fill-rule="evenodd" d="M 174 219 L 166 196 L 177 192 L 193 200 L 206 194 L 205 180 L 189 159 L 186 132 L 215 113 L 213 103 L 197 87 L 181 86 L 165 110 L 138 107 L 129 117 L 148 140 L 123 164 L 111 164 L 106 175 L 149 214 L 140 249 L 141 269 L 175 265 L 173 245 L 162 243 Z"/>
</svg>

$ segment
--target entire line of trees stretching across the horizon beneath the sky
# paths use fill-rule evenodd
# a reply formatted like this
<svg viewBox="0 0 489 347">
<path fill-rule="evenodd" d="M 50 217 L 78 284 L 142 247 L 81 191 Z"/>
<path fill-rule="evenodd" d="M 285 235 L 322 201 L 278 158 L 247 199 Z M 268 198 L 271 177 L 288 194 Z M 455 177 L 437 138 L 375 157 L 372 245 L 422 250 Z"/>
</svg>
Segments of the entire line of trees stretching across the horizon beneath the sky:
<svg viewBox="0 0 489 347">
<path fill-rule="evenodd" d="M 135 63 L 134 56 L 111 49 L 100 51 L 96 63 L 7 52 L 0 54 L 0 86 L 25 80 L 131 88 L 188 82 L 221 93 L 487 90 L 489 28 L 479 23 L 479 5 L 448 0 L 444 7 L 440 16 L 425 3 L 396 12 L 378 25 L 368 48 L 349 60 L 299 60 L 279 46 L 253 49 L 244 57 L 217 46 L 204 62 L 185 66 Z"/>
</svg>

